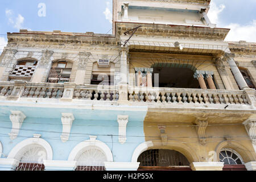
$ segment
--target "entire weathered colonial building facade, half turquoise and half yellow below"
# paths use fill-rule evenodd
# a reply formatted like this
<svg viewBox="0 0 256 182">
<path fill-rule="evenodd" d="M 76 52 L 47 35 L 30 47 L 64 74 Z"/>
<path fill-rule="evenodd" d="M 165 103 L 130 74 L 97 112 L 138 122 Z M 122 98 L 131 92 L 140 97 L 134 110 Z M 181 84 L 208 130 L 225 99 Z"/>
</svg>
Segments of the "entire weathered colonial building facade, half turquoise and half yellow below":
<svg viewBox="0 0 256 182">
<path fill-rule="evenodd" d="M 256 170 L 256 46 L 210 0 L 114 0 L 113 34 L 8 33 L 0 170 Z"/>
</svg>

